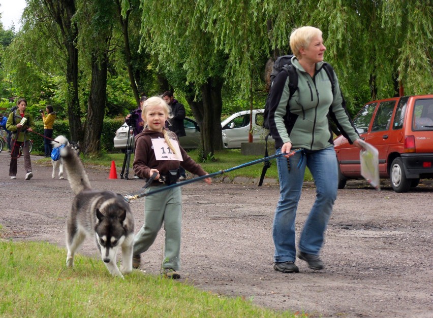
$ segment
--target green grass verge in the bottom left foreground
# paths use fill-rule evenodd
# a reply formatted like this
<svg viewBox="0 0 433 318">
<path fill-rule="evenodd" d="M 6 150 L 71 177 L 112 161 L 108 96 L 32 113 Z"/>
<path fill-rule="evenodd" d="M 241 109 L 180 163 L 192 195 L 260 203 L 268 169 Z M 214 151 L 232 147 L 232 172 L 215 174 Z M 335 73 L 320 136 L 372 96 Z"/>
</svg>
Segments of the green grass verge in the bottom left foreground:
<svg viewBox="0 0 433 318">
<path fill-rule="evenodd" d="M 0 316 L 300 316 L 138 270 L 112 277 L 102 261 L 80 255 L 73 269 L 65 260 L 66 251 L 49 243 L 0 241 Z"/>
</svg>

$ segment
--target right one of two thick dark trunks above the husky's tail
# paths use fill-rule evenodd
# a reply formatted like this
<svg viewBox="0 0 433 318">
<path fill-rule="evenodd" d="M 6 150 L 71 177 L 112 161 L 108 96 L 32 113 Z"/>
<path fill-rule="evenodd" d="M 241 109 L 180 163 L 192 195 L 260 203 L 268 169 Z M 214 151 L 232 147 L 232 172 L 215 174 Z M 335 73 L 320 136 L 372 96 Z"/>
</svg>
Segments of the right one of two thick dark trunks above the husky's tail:
<svg viewBox="0 0 433 318">
<path fill-rule="evenodd" d="M 83 152 L 88 155 L 97 154 L 101 147 L 100 141 L 107 99 L 107 67 L 107 52 L 103 54 L 100 62 L 98 62 L 97 53 L 92 54 L 90 95 L 84 125 Z"/>
</svg>

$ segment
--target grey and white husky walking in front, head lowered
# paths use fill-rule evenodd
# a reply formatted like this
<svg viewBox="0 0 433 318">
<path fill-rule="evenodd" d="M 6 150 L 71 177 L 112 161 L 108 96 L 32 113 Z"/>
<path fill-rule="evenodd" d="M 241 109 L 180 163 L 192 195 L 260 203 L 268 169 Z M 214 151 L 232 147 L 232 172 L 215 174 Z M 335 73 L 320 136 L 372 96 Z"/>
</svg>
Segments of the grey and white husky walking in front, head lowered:
<svg viewBox="0 0 433 318">
<path fill-rule="evenodd" d="M 86 236 L 95 236 L 102 260 L 115 276 L 132 271 L 134 215 L 118 193 L 92 190 L 77 153 L 66 146 L 60 150 L 75 198 L 66 226 L 66 265 L 74 265 L 74 254 Z M 122 248 L 122 266 L 116 264 L 117 250 Z"/>
</svg>

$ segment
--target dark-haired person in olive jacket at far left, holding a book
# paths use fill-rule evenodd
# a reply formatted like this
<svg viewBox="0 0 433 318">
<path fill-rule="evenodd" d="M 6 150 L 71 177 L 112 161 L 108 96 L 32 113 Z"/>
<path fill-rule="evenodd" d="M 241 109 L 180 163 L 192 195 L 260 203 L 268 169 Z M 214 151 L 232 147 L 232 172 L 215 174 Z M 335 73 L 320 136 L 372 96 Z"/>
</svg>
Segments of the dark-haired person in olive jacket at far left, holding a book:
<svg viewBox="0 0 433 318">
<path fill-rule="evenodd" d="M 30 162 L 29 143 L 28 143 L 28 132 L 35 130 L 35 121 L 33 116 L 25 112 L 27 107 L 27 101 L 24 98 L 18 99 L 18 109 L 9 114 L 8 122 L 6 127 L 12 132 L 11 140 L 11 164 L 9 166 L 9 175 L 11 179 L 16 179 L 17 167 L 18 167 L 18 153 L 19 148 L 22 147 L 22 153 L 24 155 L 24 168 L 26 171 L 25 180 L 30 180 L 33 176 L 32 162 Z M 21 124 L 23 119 L 25 122 Z"/>
</svg>

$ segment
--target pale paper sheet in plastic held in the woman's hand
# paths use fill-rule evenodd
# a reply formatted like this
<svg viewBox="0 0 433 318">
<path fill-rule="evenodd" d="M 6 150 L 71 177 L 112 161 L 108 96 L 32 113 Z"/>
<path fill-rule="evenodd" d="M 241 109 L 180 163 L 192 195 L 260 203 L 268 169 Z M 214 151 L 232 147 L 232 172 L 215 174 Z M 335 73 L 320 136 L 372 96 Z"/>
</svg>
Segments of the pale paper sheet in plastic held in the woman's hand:
<svg viewBox="0 0 433 318">
<path fill-rule="evenodd" d="M 376 147 L 364 142 L 364 140 L 359 140 L 359 143 L 365 149 L 359 152 L 361 175 L 372 187 L 380 191 L 379 151 Z"/>
</svg>

